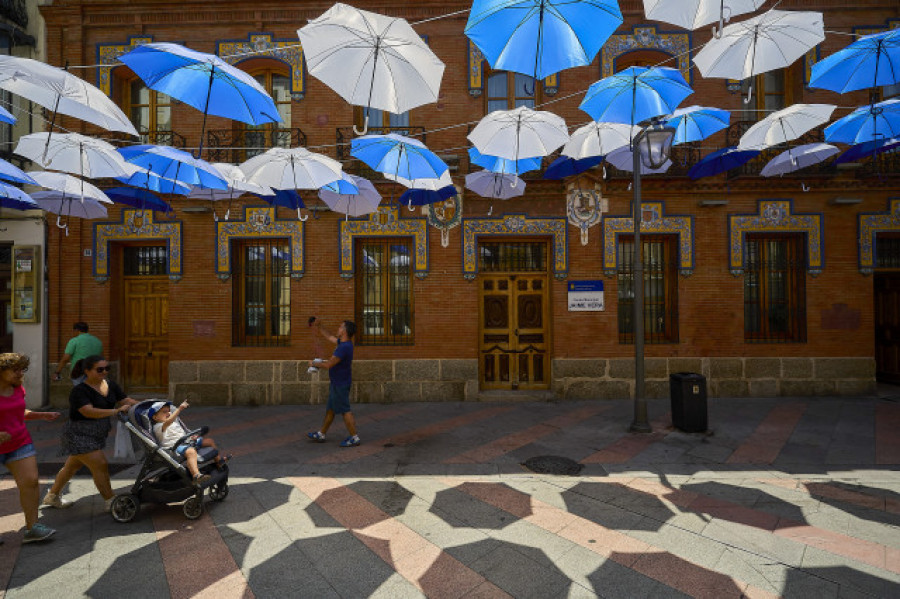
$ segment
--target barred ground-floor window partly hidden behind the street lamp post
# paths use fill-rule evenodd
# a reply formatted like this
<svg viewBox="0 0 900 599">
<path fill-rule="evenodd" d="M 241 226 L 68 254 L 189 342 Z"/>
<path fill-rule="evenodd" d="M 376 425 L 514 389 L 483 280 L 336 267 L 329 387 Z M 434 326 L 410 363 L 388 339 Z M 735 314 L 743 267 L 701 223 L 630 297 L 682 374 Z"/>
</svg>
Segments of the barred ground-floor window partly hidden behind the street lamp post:
<svg viewBox="0 0 900 599">
<path fill-rule="evenodd" d="M 678 341 L 678 237 L 642 235 L 644 263 L 644 341 Z M 634 343 L 634 238 L 619 237 L 618 282 L 619 343 Z"/>
</svg>

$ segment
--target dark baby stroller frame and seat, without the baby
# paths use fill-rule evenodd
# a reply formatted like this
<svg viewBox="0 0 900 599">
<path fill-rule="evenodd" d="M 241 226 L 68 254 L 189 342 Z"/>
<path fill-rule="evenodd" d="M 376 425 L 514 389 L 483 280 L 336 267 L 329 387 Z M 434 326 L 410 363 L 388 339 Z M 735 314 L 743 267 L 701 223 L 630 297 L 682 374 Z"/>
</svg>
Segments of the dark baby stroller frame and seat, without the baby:
<svg viewBox="0 0 900 599">
<path fill-rule="evenodd" d="M 119 420 L 131 433 L 132 439 L 138 439 L 143 448 L 143 464 L 128 493 L 116 495 L 110 505 L 110 513 L 116 522 L 131 522 L 141 509 L 141 503 L 175 503 L 184 501 L 182 510 L 191 520 L 203 514 L 203 491 L 209 488 L 209 497 L 213 501 L 222 501 L 228 496 L 228 464 L 217 467 L 215 457 L 218 455 L 212 447 L 197 449 L 197 462 L 200 472 L 212 478 L 202 487 L 196 487 L 191 474 L 185 465 L 185 458 L 174 450 L 164 449 L 153 434 L 153 421 L 148 414 L 150 407 L 157 399 L 148 399 L 137 403 L 127 412 L 120 412 Z M 185 429 L 179 419 L 178 423 Z M 190 430 L 173 447 L 191 435 L 205 435 L 209 427 L 204 426 Z"/>
</svg>

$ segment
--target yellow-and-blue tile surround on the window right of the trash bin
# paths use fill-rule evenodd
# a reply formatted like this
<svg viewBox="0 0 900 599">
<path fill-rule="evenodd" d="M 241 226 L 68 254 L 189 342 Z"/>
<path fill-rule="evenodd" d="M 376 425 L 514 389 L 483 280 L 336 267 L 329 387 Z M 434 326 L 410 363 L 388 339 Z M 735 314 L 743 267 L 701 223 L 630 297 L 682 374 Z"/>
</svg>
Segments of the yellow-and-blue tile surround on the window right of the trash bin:
<svg viewBox="0 0 900 599">
<path fill-rule="evenodd" d="M 806 269 L 812 276 L 822 272 L 824 248 L 821 214 L 793 214 L 792 200 L 759 200 L 757 214 L 729 215 L 729 267 L 731 274 L 735 276 L 744 273 L 747 233 L 804 233 Z"/>
</svg>

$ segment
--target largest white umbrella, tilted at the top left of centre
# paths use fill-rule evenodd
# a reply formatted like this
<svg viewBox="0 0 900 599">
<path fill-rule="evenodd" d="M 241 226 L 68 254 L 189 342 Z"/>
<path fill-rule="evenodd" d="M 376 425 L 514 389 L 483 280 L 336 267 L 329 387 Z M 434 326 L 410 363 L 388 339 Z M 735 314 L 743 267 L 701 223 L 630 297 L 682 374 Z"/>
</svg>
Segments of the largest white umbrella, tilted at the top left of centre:
<svg viewBox="0 0 900 599">
<path fill-rule="evenodd" d="M 350 104 L 400 114 L 437 101 L 444 63 L 403 19 L 338 3 L 297 35 L 309 73 Z"/>
</svg>

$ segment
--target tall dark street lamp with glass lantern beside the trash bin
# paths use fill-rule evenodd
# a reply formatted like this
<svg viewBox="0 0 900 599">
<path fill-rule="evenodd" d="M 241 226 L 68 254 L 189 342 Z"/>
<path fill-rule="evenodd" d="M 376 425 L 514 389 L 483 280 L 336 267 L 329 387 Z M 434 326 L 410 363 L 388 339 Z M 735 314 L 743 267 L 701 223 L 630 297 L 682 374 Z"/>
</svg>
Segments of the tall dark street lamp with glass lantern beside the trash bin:
<svg viewBox="0 0 900 599">
<path fill-rule="evenodd" d="M 675 129 L 665 127 L 657 119 L 650 121 L 632 140 L 632 165 L 634 167 L 634 421 L 630 431 L 651 432 L 647 421 L 647 398 L 644 397 L 644 252 L 641 247 L 641 163 L 647 168 L 658 169 L 669 159 Z"/>
</svg>

